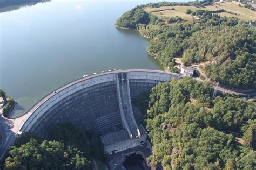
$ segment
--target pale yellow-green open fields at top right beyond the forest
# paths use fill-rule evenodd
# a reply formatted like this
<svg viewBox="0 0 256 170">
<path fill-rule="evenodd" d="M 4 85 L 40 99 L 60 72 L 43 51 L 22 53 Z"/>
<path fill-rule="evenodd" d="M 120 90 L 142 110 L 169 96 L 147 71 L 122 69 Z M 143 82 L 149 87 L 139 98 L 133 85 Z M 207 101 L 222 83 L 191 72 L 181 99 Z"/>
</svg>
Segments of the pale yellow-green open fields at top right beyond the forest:
<svg viewBox="0 0 256 170">
<path fill-rule="evenodd" d="M 256 11 L 252 11 L 250 9 L 239 7 L 239 2 L 224 2 L 220 3 L 220 5 L 214 4 L 209 5 L 205 7 L 197 7 L 197 6 L 163 6 L 160 8 L 145 8 L 144 10 L 146 12 L 151 12 L 153 15 L 157 15 L 159 17 L 174 17 L 179 16 L 182 19 L 188 20 L 188 22 L 191 22 L 193 20 L 193 17 L 191 15 L 186 14 L 187 9 L 191 9 L 192 11 L 195 10 L 209 10 L 209 11 L 216 11 L 220 9 L 224 9 L 226 11 L 231 11 L 233 13 L 237 13 L 237 15 L 232 13 L 219 13 L 220 16 L 226 16 L 226 17 L 238 17 L 240 19 L 244 19 L 247 21 L 250 20 L 256 20 Z M 242 5 L 242 4 L 241 4 Z M 175 10 L 170 10 L 174 8 Z M 161 10 L 161 11 L 158 11 Z M 154 12 L 158 11 L 158 12 Z"/>
</svg>

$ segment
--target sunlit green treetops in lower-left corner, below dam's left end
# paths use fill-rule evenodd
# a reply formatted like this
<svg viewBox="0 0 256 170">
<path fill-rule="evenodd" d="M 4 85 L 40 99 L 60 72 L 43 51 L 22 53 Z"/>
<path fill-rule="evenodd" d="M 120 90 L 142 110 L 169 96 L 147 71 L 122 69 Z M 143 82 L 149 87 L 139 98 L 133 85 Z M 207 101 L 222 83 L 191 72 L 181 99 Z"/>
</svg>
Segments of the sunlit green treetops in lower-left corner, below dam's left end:
<svg viewBox="0 0 256 170">
<path fill-rule="evenodd" d="M 58 141 L 39 144 L 34 138 L 20 147 L 12 146 L 5 169 L 86 169 L 90 161 L 83 153 Z"/>
</svg>

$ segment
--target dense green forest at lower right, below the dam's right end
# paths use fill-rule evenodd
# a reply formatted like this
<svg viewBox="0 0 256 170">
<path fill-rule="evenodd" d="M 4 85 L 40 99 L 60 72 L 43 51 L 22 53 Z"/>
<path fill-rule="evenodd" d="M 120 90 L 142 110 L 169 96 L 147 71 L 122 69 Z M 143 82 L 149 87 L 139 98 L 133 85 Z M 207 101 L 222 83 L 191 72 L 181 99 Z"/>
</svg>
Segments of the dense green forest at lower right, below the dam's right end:
<svg viewBox="0 0 256 170">
<path fill-rule="evenodd" d="M 153 145 L 149 164 L 256 168 L 256 104 L 231 96 L 211 98 L 212 93 L 210 84 L 185 77 L 160 83 L 138 98 Z"/>
</svg>

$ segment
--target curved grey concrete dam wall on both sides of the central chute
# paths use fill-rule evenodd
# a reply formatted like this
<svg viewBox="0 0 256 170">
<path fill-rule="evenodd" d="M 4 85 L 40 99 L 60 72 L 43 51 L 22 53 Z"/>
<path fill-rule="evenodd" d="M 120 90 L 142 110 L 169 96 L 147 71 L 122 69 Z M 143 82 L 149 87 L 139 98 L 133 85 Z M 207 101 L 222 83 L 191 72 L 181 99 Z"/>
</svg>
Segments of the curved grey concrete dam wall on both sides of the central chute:
<svg viewBox="0 0 256 170">
<path fill-rule="evenodd" d="M 138 69 L 86 76 L 56 89 L 36 103 L 28 111 L 30 116 L 20 131 L 44 136 L 51 126 L 64 122 L 71 122 L 83 130 L 91 129 L 98 136 L 122 129 L 117 96 L 118 73 L 127 74 L 132 101 L 159 82 L 181 78 L 175 73 Z"/>
</svg>

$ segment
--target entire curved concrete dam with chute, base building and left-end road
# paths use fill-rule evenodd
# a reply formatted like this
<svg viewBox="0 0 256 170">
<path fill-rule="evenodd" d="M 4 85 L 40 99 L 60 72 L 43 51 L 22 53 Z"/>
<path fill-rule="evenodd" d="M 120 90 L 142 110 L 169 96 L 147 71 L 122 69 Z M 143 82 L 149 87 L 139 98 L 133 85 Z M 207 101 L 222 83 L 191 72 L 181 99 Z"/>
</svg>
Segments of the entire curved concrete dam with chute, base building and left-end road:
<svg viewBox="0 0 256 170">
<path fill-rule="evenodd" d="M 52 91 L 21 117 L 0 117 L 0 159 L 22 132 L 45 137 L 53 125 L 71 122 L 100 137 L 110 169 L 122 169 L 125 157 L 134 153 L 145 161 L 152 150 L 132 103 L 159 82 L 180 78 L 176 73 L 145 69 L 85 75 Z"/>
</svg>

